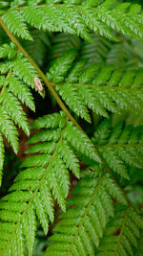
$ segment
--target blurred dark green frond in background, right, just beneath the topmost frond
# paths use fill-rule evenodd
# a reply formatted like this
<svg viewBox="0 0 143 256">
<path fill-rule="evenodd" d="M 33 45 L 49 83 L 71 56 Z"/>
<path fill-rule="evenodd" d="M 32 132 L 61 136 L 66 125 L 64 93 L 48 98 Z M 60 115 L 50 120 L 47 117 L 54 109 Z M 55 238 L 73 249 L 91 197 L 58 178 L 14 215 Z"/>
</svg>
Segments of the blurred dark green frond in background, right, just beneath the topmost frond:
<svg viewBox="0 0 143 256">
<path fill-rule="evenodd" d="M 115 68 L 130 70 L 142 66 L 141 55 L 137 51 L 134 55 L 134 44 L 137 44 L 138 50 L 142 49 L 142 41 L 122 37 L 121 41 L 112 43 L 111 40 L 99 35 L 92 35 L 92 40 L 92 44 L 84 41 L 81 45 L 80 58 L 86 59 L 87 65 L 104 61 L 107 64 L 113 64 Z"/>
</svg>

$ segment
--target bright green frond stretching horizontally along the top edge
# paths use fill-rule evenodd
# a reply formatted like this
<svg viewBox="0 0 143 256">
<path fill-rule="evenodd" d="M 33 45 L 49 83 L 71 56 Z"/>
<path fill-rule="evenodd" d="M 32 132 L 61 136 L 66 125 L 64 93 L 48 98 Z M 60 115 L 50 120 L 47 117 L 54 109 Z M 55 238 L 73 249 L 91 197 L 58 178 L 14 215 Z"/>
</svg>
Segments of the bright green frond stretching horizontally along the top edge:
<svg viewBox="0 0 143 256">
<path fill-rule="evenodd" d="M 143 38 L 140 28 L 143 20 L 139 14 L 139 5 L 115 4 L 116 1 L 106 0 L 102 3 L 93 1 L 92 8 L 92 3 L 82 1 L 47 1 L 44 5 L 38 5 L 38 2 L 29 1 L 29 6 L 20 8 L 22 11 L 10 9 L 2 15 L 11 33 L 31 39 L 26 26 L 28 22 L 39 30 L 80 35 L 89 41 L 92 41 L 90 31 L 113 40 L 117 37 L 113 35 L 112 30 L 131 37 Z"/>
</svg>

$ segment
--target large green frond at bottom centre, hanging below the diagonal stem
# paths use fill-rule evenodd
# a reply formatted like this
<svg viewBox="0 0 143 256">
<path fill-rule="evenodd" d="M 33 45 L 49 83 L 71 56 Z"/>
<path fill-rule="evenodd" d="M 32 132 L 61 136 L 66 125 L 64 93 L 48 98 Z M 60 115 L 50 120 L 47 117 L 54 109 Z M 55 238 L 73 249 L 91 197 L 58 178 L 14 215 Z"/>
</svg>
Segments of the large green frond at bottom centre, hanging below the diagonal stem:
<svg viewBox="0 0 143 256">
<path fill-rule="evenodd" d="M 113 217 L 112 197 L 126 204 L 122 191 L 111 187 L 112 177 L 95 167 L 82 173 L 82 179 L 72 191 L 78 195 L 68 200 L 69 209 L 53 228 L 46 255 L 94 255 L 110 217 Z"/>
</svg>

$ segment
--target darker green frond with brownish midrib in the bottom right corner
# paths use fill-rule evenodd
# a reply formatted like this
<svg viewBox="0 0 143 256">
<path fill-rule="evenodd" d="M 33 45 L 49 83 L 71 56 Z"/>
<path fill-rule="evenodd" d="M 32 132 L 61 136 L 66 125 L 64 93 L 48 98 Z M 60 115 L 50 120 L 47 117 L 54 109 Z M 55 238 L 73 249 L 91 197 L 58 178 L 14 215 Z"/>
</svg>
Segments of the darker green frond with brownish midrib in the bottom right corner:
<svg viewBox="0 0 143 256">
<path fill-rule="evenodd" d="M 132 207 L 118 205 L 95 255 L 136 255 L 135 248 L 142 228 L 143 221 Z"/>
</svg>

